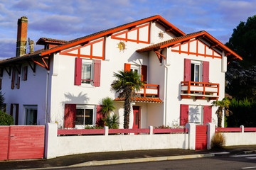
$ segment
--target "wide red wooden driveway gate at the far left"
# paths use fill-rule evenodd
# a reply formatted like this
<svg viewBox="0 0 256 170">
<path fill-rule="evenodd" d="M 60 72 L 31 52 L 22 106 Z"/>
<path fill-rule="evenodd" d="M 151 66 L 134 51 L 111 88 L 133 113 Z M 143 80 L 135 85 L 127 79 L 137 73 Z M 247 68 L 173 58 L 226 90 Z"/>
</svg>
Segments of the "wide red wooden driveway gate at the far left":
<svg viewBox="0 0 256 170">
<path fill-rule="evenodd" d="M 0 160 L 43 158 L 45 126 L 1 126 Z"/>
</svg>

